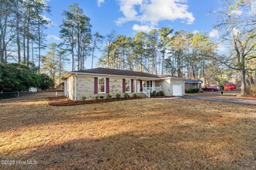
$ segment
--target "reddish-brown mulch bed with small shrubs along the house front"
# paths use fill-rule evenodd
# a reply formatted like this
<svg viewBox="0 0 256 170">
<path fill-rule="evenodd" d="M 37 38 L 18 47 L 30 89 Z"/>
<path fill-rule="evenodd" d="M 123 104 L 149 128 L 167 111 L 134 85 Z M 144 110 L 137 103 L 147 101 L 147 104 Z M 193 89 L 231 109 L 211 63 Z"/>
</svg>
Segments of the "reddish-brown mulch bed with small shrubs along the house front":
<svg viewBox="0 0 256 170">
<path fill-rule="evenodd" d="M 114 101 L 123 101 L 123 100 L 136 100 L 142 99 L 141 97 L 128 97 L 128 98 L 112 98 L 112 99 L 99 99 L 99 100 L 85 100 L 85 101 L 73 101 L 67 99 L 67 97 L 50 97 L 50 106 L 75 106 L 81 104 L 104 104 Z"/>
</svg>

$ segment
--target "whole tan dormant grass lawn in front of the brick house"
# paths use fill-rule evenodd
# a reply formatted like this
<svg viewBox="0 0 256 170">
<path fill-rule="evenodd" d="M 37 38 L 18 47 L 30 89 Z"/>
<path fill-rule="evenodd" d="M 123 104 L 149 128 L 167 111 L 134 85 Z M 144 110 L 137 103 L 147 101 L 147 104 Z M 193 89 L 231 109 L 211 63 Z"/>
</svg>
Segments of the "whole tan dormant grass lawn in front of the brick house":
<svg viewBox="0 0 256 170">
<path fill-rule="evenodd" d="M 1 169 L 254 169 L 256 106 L 140 99 L 0 101 Z"/>
</svg>

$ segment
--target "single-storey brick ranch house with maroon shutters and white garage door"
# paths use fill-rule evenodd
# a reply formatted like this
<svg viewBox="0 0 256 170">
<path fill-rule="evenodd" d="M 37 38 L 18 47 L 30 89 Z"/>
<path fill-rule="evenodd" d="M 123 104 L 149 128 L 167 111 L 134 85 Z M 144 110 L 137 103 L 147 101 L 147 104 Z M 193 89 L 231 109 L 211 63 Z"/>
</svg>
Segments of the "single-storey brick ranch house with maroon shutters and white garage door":
<svg viewBox="0 0 256 170">
<path fill-rule="evenodd" d="M 63 79 L 64 95 L 71 100 L 106 98 L 108 93 L 112 97 L 116 97 L 116 93 L 122 97 L 124 93 L 150 97 L 152 91 L 163 91 L 166 96 L 185 94 L 185 79 L 178 76 L 96 68 L 68 72 Z"/>
</svg>

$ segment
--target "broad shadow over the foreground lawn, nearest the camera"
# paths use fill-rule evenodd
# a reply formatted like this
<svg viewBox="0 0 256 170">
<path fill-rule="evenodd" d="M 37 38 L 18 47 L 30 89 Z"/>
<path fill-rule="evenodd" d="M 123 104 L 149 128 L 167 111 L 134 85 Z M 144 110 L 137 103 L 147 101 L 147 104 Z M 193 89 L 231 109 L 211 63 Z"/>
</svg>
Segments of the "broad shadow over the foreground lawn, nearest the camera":
<svg viewBox="0 0 256 170">
<path fill-rule="evenodd" d="M 215 129 L 219 131 L 218 128 Z M 225 141 L 230 135 L 193 137 L 193 130 L 159 134 L 128 132 L 105 138 L 82 138 L 46 144 L 32 151 L 5 155 L 3 159 L 36 160 L 36 165 L 9 168 L 53 169 L 250 169 L 254 160 Z M 209 133 L 209 134 L 207 134 Z M 236 138 L 235 136 L 231 136 Z M 232 142 L 231 142 L 232 143 Z M 237 153 L 239 152 L 239 153 Z M 242 154 L 242 155 L 240 155 Z M 244 155 L 243 155 L 244 154 Z M 7 167 L 7 165 L 2 165 Z"/>
</svg>

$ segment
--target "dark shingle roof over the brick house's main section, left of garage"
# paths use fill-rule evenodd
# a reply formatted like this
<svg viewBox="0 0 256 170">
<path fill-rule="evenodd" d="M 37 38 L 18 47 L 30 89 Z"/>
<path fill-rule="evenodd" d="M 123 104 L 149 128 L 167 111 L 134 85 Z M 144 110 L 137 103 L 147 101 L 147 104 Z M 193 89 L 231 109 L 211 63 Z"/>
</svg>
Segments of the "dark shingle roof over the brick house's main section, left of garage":
<svg viewBox="0 0 256 170">
<path fill-rule="evenodd" d="M 143 76 L 150 78 L 159 78 L 159 76 L 150 73 L 130 71 L 130 70 L 116 70 L 116 69 L 106 69 L 106 68 L 95 68 L 88 70 L 73 71 L 73 73 L 94 73 L 94 74 L 110 74 L 118 76 Z"/>
</svg>

